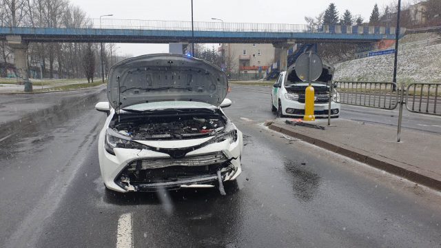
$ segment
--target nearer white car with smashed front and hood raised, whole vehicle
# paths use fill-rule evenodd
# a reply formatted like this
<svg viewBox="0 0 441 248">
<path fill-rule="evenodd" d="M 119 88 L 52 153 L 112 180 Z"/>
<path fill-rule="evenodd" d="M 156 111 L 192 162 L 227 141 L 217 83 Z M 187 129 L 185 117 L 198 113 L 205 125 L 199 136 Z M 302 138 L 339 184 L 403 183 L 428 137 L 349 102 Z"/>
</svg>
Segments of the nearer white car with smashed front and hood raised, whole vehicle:
<svg viewBox="0 0 441 248">
<path fill-rule="evenodd" d="M 216 187 L 240 174 L 242 132 L 222 107 L 228 81 L 215 65 L 180 54 L 150 54 L 114 65 L 98 151 L 105 187 L 145 192 Z"/>
</svg>

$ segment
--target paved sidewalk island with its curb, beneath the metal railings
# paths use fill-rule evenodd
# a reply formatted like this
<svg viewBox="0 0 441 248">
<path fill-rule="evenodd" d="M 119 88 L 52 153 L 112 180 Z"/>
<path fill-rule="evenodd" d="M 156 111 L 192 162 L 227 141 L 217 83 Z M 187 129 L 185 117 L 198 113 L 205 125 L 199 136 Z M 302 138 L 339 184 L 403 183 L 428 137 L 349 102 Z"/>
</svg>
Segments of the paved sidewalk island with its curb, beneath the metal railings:
<svg viewBox="0 0 441 248">
<path fill-rule="evenodd" d="M 277 119 L 269 128 L 416 183 L 441 189 L 441 136 L 438 134 L 404 129 L 402 142 L 397 143 L 397 128 L 387 125 L 332 119 L 328 127 L 327 120 L 318 120 L 314 124 L 326 128 L 318 130 L 289 125 L 285 120 L 289 118 Z"/>
</svg>

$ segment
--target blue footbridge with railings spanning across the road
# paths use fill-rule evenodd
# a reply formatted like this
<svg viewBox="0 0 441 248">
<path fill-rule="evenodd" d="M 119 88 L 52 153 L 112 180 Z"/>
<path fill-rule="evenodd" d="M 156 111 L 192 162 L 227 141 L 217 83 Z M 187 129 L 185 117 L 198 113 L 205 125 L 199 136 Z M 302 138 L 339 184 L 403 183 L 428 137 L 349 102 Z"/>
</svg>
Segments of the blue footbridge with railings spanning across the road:
<svg viewBox="0 0 441 248">
<path fill-rule="evenodd" d="M 85 19 L 61 27 L 0 27 L 0 40 L 14 50 L 17 80 L 28 79 L 27 48 L 32 42 L 84 43 L 272 43 L 280 48 L 280 69 L 286 70 L 288 50 L 294 43 L 371 43 L 395 39 L 396 29 L 377 26 L 283 23 L 225 23 Z M 404 34 L 404 30 L 400 30 Z"/>
</svg>

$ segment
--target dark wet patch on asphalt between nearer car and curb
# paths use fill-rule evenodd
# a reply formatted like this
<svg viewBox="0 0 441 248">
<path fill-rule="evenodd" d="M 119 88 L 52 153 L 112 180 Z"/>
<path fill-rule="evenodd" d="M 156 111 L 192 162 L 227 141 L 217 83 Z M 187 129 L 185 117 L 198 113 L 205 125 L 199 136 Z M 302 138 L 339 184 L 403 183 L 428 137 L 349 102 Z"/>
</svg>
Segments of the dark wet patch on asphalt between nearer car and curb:
<svg viewBox="0 0 441 248">
<path fill-rule="evenodd" d="M 321 178 L 318 174 L 309 171 L 306 166 L 294 161 L 286 161 L 285 169 L 292 176 L 294 195 L 301 201 L 310 201 L 318 193 Z"/>
</svg>

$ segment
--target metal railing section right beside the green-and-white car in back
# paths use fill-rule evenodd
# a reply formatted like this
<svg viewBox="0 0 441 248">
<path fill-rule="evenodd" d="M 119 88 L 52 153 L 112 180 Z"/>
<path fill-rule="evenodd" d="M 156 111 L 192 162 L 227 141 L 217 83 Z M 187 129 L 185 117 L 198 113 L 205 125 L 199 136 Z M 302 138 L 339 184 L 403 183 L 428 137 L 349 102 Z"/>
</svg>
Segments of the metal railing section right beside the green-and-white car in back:
<svg viewBox="0 0 441 248">
<path fill-rule="evenodd" d="M 335 81 L 337 103 L 394 110 L 398 106 L 396 83 Z"/>
</svg>

